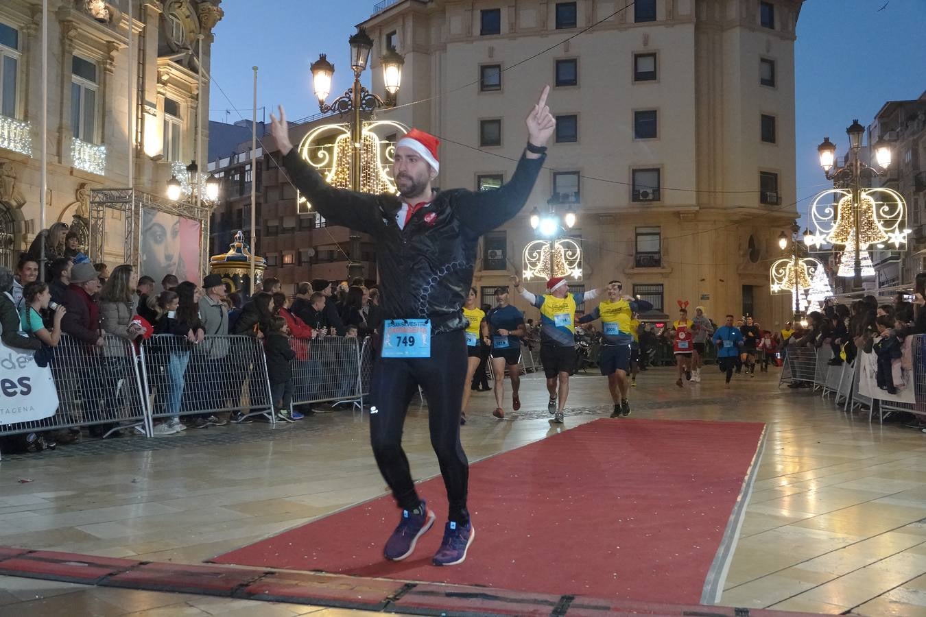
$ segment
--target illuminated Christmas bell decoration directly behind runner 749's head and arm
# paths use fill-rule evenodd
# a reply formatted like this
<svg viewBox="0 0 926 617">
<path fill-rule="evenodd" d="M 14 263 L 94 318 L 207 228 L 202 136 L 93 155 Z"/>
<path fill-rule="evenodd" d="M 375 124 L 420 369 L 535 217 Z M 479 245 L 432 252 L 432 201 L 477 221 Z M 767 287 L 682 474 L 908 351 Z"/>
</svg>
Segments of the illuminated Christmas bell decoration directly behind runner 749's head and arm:
<svg viewBox="0 0 926 617">
<path fill-rule="evenodd" d="M 395 144 L 382 139 L 379 133 L 401 135 L 407 131 L 404 124 L 392 120 L 363 123 L 363 139 L 360 144 L 361 192 L 398 192 L 393 179 Z M 299 142 L 297 152 L 329 184 L 339 189 L 350 189 L 353 147 L 350 124 L 324 124 L 306 133 Z M 297 195 L 296 203 L 300 214 L 307 214 L 312 209 L 312 204 L 302 194 Z"/>
</svg>

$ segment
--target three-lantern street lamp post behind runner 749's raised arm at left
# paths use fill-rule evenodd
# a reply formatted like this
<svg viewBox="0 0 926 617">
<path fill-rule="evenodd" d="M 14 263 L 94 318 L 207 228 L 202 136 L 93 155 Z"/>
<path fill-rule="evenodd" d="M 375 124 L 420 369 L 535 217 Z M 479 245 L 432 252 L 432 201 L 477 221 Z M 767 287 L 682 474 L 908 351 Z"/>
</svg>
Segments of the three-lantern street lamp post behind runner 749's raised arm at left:
<svg viewBox="0 0 926 617">
<path fill-rule="evenodd" d="M 354 69 L 354 83 L 350 90 L 332 101 L 331 105 L 325 99 L 332 91 L 332 76 L 334 65 L 328 61 L 324 54 L 312 63 L 312 86 L 319 99 L 321 113 L 338 112 L 339 114 L 352 114 L 351 119 L 351 190 L 360 190 L 360 164 L 363 153 L 363 118 L 364 112 L 371 113 L 380 108 L 395 106 L 395 95 L 399 91 L 402 81 L 402 66 L 405 58 L 398 54 L 393 47 L 386 50 L 380 57 L 382 64 L 382 77 L 386 88 L 386 97 L 383 99 L 370 93 L 360 83 L 360 75 L 367 68 L 369 53 L 373 49 L 373 40 L 363 28 L 348 40 L 350 43 L 351 68 Z M 360 262 L 360 235 L 356 230 L 350 230 L 350 264 L 347 266 L 347 276 L 357 278 L 363 276 L 363 264 Z"/>
</svg>

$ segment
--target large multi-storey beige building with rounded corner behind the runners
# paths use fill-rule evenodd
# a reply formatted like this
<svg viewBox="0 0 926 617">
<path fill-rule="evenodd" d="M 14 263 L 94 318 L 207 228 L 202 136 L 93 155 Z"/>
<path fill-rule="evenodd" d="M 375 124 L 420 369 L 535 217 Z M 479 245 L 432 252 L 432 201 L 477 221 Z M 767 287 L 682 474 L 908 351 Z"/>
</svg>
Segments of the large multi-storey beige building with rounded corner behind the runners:
<svg viewBox="0 0 926 617">
<path fill-rule="evenodd" d="M 586 289 L 620 278 L 670 315 L 782 322 L 777 238 L 795 219 L 795 24 L 800 0 L 398 0 L 365 21 L 373 57 L 406 58 L 400 107 L 442 138 L 444 188 L 508 179 L 544 84 L 557 116 L 521 216 L 483 239 L 474 284 L 507 283 L 528 216 L 574 204 Z M 374 92 L 382 71 L 372 67 Z M 413 105 L 409 105 L 413 104 Z M 405 105 L 405 106 L 402 106 Z M 560 210 L 564 205 L 558 205 Z M 534 285 L 539 289 L 539 285 Z"/>
</svg>

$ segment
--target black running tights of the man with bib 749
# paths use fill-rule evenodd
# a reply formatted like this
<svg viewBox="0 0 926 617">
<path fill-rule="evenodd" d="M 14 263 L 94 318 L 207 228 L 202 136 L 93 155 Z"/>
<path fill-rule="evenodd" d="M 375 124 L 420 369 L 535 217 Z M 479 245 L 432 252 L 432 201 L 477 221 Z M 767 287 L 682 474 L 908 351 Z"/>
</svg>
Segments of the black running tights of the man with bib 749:
<svg viewBox="0 0 926 617">
<path fill-rule="evenodd" d="M 466 334 L 446 332 L 432 336 L 430 358 L 381 358 L 373 370 L 369 412 L 369 435 L 380 473 L 393 490 L 403 510 L 419 505 L 411 477 L 402 428 L 408 403 L 419 386 L 428 399 L 428 427 L 431 445 L 444 476 L 448 519 L 469 522 L 466 508 L 469 462 L 460 444 L 460 406 L 467 370 Z"/>
</svg>

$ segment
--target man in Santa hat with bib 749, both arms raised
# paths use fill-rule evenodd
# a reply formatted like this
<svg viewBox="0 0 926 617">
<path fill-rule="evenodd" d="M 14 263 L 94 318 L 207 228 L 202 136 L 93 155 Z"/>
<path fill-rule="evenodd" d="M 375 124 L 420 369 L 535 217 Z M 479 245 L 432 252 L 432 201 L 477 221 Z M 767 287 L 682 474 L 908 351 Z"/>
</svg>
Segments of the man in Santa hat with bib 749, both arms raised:
<svg viewBox="0 0 926 617">
<path fill-rule="evenodd" d="M 434 565 L 466 559 L 475 530 L 467 510 L 469 463 L 460 444 L 460 401 L 466 378 L 462 306 L 479 238 L 516 216 L 544 164 L 544 145 L 556 121 L 546 106 L 549 87 L 527 117 L 528 143 L 508 182 L 495 191 L 432 191 L 440 171 L 438 140 L 410 130 L 395 144 L 398 195 L 336 189 L 294 151 L 286 117 L 271 116 L 271 131 L 295 187 L 329 225 L 368 233 L 376 241 L 382 290 L 382 353 L 370 384 L 370 440 L 380 472 L 402 518 L 384 555 L 403 560 L 431 528 L 434 513 L 419 499 L 402 450 L 402 426 L 412 393 L 428 398 L 432 447 L 449 502 L 444 540 Z"/>
</svg>

